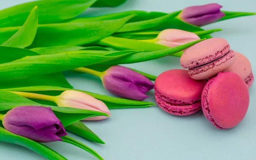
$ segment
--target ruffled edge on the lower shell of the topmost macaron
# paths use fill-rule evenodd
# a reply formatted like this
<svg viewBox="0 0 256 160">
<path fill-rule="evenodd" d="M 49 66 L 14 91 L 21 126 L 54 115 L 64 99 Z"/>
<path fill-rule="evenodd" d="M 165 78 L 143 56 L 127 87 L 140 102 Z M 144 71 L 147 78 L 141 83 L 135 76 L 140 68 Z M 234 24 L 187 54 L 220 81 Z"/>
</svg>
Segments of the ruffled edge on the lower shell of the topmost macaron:
<svg viewBox="0 0 256 160">
<path fill-rule="evenodd" d="M 221 56 L 218 59 L 215 59 L 207 64 L 195 67 L 195 68 L 189 68 L 189 75 L 193 76 L 196 75 L 198 73 L 202 73 L 202 72 L 206 72 L 207 70 L 212 69 L 213 67 L 217 67 L 227 61 L 229 61 L 230 59 L 232 59 L 234 56 L 236 56 L 235 51 L 230 50 L 227 54 L 225 54 L 224 56 Z"/>
</svg>

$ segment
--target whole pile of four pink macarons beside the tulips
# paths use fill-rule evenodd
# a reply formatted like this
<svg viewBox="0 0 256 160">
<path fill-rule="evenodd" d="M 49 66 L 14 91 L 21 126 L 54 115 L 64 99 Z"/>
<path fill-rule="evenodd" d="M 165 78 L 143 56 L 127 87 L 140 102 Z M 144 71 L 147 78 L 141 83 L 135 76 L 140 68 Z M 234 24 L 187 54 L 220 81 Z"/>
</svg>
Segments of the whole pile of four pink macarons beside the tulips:
<svg viewBox="0 0 256 160">
<path fill-rule="evenodd" d="M 180 65 L 188 70 L 168 70 L 155 81 L 161 109 L 172 115 L 191 115 L 202 109 L 219 129 L 233 128 L 243 120 L 254 80 L 244 55 L 231 50 L 225 39 L 211 38 L 188 48 Z"/>
</svg>

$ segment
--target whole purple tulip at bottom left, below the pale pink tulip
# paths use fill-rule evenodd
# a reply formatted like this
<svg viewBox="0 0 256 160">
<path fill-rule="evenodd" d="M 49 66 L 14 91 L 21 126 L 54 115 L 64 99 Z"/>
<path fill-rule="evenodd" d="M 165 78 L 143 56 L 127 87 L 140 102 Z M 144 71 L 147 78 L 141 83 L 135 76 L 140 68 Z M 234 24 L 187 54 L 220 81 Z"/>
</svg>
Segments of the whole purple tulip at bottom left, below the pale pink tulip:
<svg viewBox="0 0 256 160">
<path fill-rule="evenodd" d="M 49 107 L 15 107 L 4 115 L 3 126 L 9 132 L 37 142 L 62 141 L 60 137 L 67 135 Z"/>
</svg>

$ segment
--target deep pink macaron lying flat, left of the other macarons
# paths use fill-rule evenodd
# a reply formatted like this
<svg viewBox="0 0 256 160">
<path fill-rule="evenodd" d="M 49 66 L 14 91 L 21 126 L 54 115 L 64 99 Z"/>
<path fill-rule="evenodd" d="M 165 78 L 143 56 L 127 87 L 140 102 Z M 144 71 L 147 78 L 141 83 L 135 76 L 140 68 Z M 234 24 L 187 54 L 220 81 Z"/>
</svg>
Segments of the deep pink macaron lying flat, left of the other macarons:
<svg viewBox="0 0 256 160">
<path fill-rule="evenodd" d="M 168 70 L 155 80 L 158 106 L 172 115 L 192 115 L 201 110 L 201 93 L 206 80 L 194 80 L 188 70 Z"/>
</svg>

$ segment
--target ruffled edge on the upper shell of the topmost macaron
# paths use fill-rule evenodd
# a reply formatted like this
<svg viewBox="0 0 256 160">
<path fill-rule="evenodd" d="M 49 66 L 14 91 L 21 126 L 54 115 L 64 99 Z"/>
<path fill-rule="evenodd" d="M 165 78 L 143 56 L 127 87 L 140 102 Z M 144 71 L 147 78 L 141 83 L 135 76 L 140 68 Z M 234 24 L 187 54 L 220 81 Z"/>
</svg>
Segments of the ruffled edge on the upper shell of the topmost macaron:
<svg viewBox="0 0 256 160">
<path fill-rule="evenodd" d="M 225 56 L 228 52 L 230 52 L 230 45 L 226 45 L 221 51 L 217 51 L 215 54 L 206 56 L 204 58 L 201 59 L 197 59 L 196 61 L 192 61 L 189 64 L 184 64 L 181 65 L 181 67 L 183 68 L 195 68 L 195 67 L 199 67 L 201 65 L 205 65 L 207 63 L 210 63 L 218 58 L 221 58 L 223 56 Z"/>
</svg>

